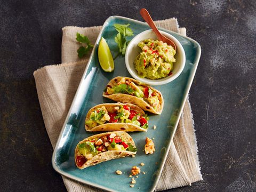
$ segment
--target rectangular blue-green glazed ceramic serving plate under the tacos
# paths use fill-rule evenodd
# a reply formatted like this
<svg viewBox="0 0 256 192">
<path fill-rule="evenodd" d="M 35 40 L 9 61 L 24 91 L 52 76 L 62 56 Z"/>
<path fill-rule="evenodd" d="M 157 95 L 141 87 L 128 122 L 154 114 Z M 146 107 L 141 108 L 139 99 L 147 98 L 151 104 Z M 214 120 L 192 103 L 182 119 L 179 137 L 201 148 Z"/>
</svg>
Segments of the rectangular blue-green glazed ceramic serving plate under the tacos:
<svg viewBox="0 0 256 192">
<path fill-rule="evenodd" d="M 114 57 L 118 53 L 117 44 L 114 40 L 117 34 L 113 27 L 114 23 L 130 23 L 134 36 L 149 29 L 146 23 L 129 18 L 113 16 L 106 20 L 62 127 L 53 152 L 52 165 L 57 172 L 68 178 L 108 191 L 153 191 L 161 175 L 167 151 L 169 151 L 178 125 L 178 119 L 181 116 L 193 82 L 201 48 L 193 39 L 160 28 L 177 38 L 186 53 L 186 65 L 180 76 L 171 83 L 155 86 L 164 97 L 163 113 L 149 116 L 148 132 L 129 133 L 138 149 L 135 158 L 114 159 L 79 170 L 74 161 L 74 151 L 77 143 L 84 138 L 99 133 L 85 131 L 84 121 L 87 111 L 100 103 L 113 102 L 102 97 L 102 92 L 110 79 L 116 76 L 131 77 L 125 67 L 124 57 L 119 56 L 115 59 L 115 70 L 112 73 L 104 72 L 99 65 L 98 45 L 101 37 L 106 39 Z M 153 129 L 154 125 L 157 126 L 155 130 Z M 154 138 L 156 148 L 154 154 L 145 155 L 143 151 L 146 137 Z M 145 163 L 145 166 L 140 166 L 141 162 Z M 132 166 L 139 166 L 141 172 L 147 172 L 146 174 L 140 173 L 139 177 L 135 178 L 136 183 L 133 188 L 130 187 L 131 178 L 129 178 Z M 117 175 L 116 170 L 123 171 L 123 174 Z"/>
</svg>

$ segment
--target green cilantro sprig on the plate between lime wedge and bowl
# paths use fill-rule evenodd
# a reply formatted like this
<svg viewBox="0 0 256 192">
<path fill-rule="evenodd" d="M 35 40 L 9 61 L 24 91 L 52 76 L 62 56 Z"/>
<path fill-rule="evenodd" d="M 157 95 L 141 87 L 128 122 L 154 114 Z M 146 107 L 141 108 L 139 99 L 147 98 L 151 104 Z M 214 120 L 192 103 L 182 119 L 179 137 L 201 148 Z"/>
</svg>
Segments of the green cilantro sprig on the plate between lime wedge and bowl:
<svg viewBox="0 0 256 192">
<path fill-rule="evenodd" d="M 116 55 L 114 59 L 118 57 L 119 54 L 125 55 L 126 47 L 128 45 L 128 41 L 126 37 L 133 36 L 133 31 L 129 28 L 130 24 L 121 25 L 121 24 L 114 24 L 115 29 L 118 31 L 118 34 L 115 37 L 115 42 L 119 48 L 119 53 Z"/>
</svg>

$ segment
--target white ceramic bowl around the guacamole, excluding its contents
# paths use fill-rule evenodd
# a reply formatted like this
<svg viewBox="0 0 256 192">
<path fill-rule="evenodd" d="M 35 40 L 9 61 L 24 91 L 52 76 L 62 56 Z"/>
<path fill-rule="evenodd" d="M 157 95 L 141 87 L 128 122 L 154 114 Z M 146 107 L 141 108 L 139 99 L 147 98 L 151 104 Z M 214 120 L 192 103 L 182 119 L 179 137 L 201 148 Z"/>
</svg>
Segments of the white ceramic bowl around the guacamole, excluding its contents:
<svg viewBox="0 0 256 192">
<path fill-rule="evenodd" d="M 135 36 L 131 40 L 131 42 L 128 44 L 126 52 L 125 52 L 125 64 L 126 64 L 127 70 L 131 74 L 131 76 L 133 78 L 137 79 L 138 81 L 141 81 L 148 85 L 163 85 L 166 83 L 170 83 L 171 81 L 173 81 L 175 78 L 177 78 L 181 74 L 181 72 L 185 66 L 185 62 L 186 62 L 185 51 L 184 51 L 182 45 L 180 44 L 180 42 L 177 40 L 177 38 L 173 37 L 172 35 L 170 35 L 168 33 L 165 33 L 164 31 L 160 31 L 160 32 L 167 38 L 170 38 L 176 45 L 176 54 L 174 55 L 176 62 L 173 63 L 174 69 L 172 71 L 172 75 L 167 76 L 165 78 L 161 78 L 161 79 L 141 78 L 138 75 L 137 70 L 134 67 L 133 62 L 134 62 L 135 58 L 137 57 L 137 55 L 141 52 L 140 47 L 137 46 L 138 43 L 145 39 L 148 39 L 148 38 L 151 38 L 154 40 L 157 39 L 155 33 L 151 29 L 143 31 L 142 33 Z"/>
</svg>

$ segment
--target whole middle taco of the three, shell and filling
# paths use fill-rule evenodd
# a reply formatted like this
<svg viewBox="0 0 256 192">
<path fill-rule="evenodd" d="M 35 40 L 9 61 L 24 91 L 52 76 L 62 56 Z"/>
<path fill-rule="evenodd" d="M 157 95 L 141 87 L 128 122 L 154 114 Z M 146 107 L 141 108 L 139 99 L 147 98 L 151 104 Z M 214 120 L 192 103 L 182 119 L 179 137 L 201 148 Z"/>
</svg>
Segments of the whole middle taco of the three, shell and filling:
<svg viewBox="0 0 256 192">
<path fill-rule="evenodd" d="M 103 103 L 89 110 L 86 131 L 147 131 L 148 117 L 138 106 L 129 103 Z"/>
</svg>

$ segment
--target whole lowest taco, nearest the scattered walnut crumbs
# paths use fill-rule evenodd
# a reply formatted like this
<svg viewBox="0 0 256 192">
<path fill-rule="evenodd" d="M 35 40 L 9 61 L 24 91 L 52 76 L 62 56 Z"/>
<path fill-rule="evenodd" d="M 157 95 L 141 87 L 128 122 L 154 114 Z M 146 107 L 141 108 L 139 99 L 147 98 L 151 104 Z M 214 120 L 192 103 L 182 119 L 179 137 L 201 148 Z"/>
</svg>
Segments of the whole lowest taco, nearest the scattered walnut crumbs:
<svg viewBox="0 0 256 192">
<path fill-rule="evenodd" d="M 137 148 L 131 136 L 124 131 L 92 135 L 80 141 L 75 149 L 75 163 L 79 169 L 111 159 L 132 156 Z"/>
</svg>

